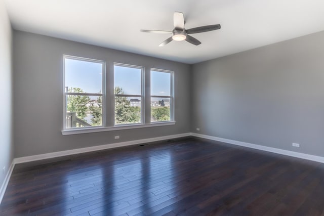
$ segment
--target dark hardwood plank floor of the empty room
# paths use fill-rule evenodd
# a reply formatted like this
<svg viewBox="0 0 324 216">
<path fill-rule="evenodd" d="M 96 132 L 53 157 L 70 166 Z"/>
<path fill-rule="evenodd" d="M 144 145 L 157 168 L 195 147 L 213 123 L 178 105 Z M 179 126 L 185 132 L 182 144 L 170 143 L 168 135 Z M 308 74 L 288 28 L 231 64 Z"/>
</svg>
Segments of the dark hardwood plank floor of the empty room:
<svg viewBox="0 0 324 216">
<path fill-rule="evenodd" d="M 187 138 L 17 164 L 0 214 L 323 215 L 323 180 L 321 163 Z"/>
</svg>

